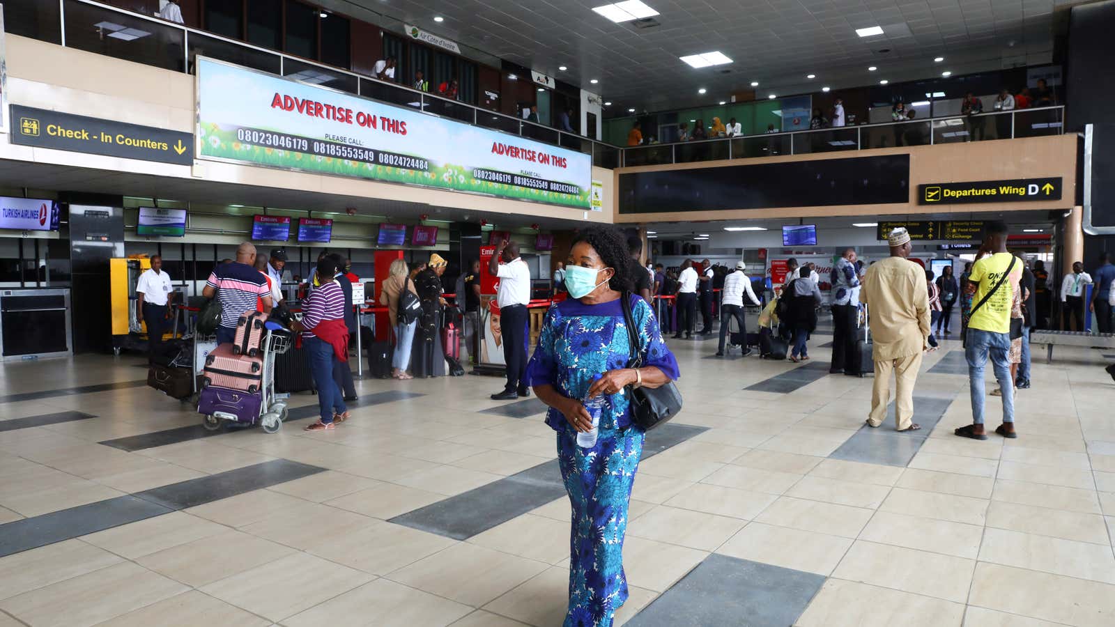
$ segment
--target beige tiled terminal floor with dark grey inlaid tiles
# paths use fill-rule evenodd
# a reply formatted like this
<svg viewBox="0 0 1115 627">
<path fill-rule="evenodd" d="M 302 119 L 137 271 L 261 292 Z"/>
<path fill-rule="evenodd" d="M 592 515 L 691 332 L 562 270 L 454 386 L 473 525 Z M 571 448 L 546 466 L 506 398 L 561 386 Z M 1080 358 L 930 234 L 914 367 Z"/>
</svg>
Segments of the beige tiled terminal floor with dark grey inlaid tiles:
<svg viewBox="0 0 1115 627">
<path fill-rule="evenodd" d="M 958 341 L 899 434 L 863 426 L 872 379 L 828 375 L 830 339 L 802 366 L 672 345 L 686 404 L 647 441 L 617 624 L 1115 625 L 1101 353 L 1035 363 L 1020 437 L 975 442 L 952 435 Z M 298 395 L 278 434 L 213 435 L 137 363 L 0 366 L 0 626 L 561 625 L 569 504 L 536 399 L 367 379 L 336 431 L 302 432 Z"/>
</svg>

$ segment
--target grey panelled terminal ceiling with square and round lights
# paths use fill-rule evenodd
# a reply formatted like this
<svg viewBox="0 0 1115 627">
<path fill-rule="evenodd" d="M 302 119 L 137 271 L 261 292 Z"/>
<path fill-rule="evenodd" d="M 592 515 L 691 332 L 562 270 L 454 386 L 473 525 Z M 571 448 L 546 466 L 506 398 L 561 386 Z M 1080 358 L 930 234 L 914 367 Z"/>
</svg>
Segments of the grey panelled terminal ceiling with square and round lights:
<svg viewBox="0 0 1115 627">
<path fill-rule="evenodd" d="M 660 26 L 638 30 L 591 8 L 605 0 L 334 0 L 414 23 L 600 93 L 612 110 L 714 105 L 759 81 L 802 94 L 1048 62 L 1053 15 L 1073 0 L 644 0 Z M 362 12 L 362 11 L 361 11 Z M 435 22 L 440 16 L 443 22 Z M 860 38 L 856 28 L 884 33 Z M 890 49 L 889 52 L 881 52 Z M 719 50 L 727 66 L 679 57 Z M 940 64 L 933 58 L 946 57 Z M 565 65 L 568 71 L 560 71 Z M 867 66 L 879 70 L 867 71 Z M 727 71 L 728 74 L 721 74 Z M 815 74 L 813 80 L 807 74 Z M 598 85 L 590 79 L 599 79 Z M 708 93 L 698 96 L 697 89 Z"/>
</svg>

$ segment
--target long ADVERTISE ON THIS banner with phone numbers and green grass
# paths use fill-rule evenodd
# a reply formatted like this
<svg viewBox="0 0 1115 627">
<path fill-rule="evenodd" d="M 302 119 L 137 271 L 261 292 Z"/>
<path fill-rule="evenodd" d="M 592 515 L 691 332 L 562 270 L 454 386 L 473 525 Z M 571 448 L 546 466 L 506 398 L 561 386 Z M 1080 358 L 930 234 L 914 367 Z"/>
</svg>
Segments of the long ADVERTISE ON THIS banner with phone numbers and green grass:
<svg viewBox="0 0 1115 627">
<path fill-rule="evenodd" d="M 590 155 L 197 59 L 197 154 L 589 209 Z"/>
</svg>

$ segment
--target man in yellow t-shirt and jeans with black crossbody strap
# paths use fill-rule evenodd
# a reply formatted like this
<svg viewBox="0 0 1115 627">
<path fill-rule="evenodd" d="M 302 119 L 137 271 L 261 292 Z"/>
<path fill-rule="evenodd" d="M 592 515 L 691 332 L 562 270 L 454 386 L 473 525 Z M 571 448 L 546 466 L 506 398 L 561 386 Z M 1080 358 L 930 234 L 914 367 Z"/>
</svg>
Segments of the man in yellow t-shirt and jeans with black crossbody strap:
<svg viewBox="0 0 1115 627">
<path fill-rule="evenodd" d="M 1022 278 L 1022 262 L 1007 252 L 1007 225 L 988 223 L 981 257 L 972 264 L 966 291 L 972 298 L 972 312 L 964 338 L 968 385 L 972 403 L 972 424 L 956 430 L 961 437 L 987 440 L 983 431 L 983 368 L 990 356 L 995 378 L 1002 389 L 1002 424 L 995 430 L 1004 437 L 1015 433 L 1015 383 L 1010 376 L 1010 309 L 1015 290 Z M 1005 277 L 1006 274 L 1006 277 Z"/>
</svg>

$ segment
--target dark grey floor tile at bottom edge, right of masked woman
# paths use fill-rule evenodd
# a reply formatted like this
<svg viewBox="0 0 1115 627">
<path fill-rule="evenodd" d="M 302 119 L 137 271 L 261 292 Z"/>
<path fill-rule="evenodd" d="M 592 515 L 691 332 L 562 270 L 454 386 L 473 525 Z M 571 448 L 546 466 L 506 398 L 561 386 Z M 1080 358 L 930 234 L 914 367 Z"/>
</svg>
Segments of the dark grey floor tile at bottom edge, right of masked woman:
<svg viewBox="0 0 1115 627">
<path fill-rule="evenodd" d="M 627 624 L 631 627 L 788 627 L 825 577 L 712 553 Z"/>
</svg>

